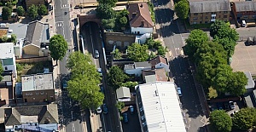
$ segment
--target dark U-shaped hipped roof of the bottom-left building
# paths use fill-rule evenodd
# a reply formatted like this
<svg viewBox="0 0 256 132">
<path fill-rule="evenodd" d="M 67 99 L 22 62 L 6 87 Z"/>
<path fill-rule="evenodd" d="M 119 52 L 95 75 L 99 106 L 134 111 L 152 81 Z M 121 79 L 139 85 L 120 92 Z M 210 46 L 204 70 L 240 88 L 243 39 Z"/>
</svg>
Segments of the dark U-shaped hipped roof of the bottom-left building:
<svg viewBox="0 0 256 132">
<path fill-rule="evenodd" d="M 38 116 L 38 123 L 59 123 L 56 104 L 47 106 L 18 106 L 4 109 L 6 118 L 5 125 L 20 124 L 20 115 Z"/>
</svg>

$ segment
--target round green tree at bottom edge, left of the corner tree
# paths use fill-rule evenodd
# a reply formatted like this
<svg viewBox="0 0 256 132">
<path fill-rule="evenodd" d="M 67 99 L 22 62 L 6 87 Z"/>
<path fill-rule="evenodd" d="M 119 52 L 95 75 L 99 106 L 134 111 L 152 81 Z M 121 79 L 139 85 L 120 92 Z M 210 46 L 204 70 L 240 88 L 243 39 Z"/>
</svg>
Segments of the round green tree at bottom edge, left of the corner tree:
<svg viewBox="0 0 256 132">
<path fill-rule="evenodd" d="M 232 129 L 232 119 L 224 110 L 211 112 L 210 123 L 214 132 L 230 132 Z"/>
</svg>

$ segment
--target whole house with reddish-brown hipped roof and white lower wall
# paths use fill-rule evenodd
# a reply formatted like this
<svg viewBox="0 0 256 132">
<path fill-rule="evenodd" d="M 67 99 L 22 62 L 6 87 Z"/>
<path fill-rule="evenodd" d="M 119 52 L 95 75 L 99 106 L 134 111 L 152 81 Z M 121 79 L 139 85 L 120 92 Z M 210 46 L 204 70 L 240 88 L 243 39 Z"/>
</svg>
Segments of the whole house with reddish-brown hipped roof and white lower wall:
<svg viewBox="0 0 256 132">
<path fill-rule="evenodd" d="M 147 3 L 130 3 L 127 10 L 129 11 L 128 17 L 132 34 L 145 34 L 154 31 L 154 23 Z"/>
</svg>

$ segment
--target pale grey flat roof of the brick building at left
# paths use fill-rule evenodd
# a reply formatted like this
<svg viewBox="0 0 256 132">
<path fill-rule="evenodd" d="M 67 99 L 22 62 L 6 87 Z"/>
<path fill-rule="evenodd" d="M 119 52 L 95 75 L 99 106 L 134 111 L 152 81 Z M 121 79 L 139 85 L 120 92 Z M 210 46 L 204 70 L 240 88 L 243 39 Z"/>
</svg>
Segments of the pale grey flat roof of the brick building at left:
<svg viewBox="0 0 256 132">
<path fill-rule="evenodd" d="M 54 89 L 52 73 L 25 75 L 21 77 L 22 91 Z"/>
</svg>

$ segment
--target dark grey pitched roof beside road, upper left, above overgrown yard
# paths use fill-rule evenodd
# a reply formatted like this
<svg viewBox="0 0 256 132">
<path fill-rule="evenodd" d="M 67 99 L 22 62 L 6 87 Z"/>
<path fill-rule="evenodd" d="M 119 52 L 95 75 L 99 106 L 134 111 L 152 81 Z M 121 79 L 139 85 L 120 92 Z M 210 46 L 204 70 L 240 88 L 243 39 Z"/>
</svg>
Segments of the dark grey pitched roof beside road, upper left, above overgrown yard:
<svg viewBox="0 0 256 132">
<path fill-rule="evenodd" d="M 32 21 L 27 26 L 24 45 L 33 44 L 41 48 L 41 43 L 49 43 L 49 25 L 41 21 Z"/>
</svg>

